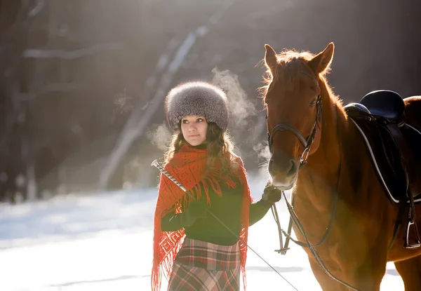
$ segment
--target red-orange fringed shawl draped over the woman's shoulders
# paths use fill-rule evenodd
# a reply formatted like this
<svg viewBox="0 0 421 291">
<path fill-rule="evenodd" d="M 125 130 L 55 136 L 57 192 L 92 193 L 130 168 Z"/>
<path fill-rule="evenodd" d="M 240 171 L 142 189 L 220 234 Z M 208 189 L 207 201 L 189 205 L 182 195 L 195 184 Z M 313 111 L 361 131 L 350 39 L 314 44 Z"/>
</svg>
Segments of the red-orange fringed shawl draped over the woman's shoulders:
<svg viewBox="0 0 421 291">
<path fill-rule="evenodd" d="M 165 170 L 169 172 L 175 180 L 180 182 L 190 194 L 196 198 L 200 198 L 201 187 L 204 189 L 206 200 L 210 204 L 208 184 L 211 185 L 216 194 L 222 195 L 220 185 L 215 179 L 219 177 L 219 170 L 208 172 L 206 174 L 206 163 L 208 158 L 207 149 L 194 149 L 183 145 L 176 154 L 174 154 L 171 161 L 165 166 Z M 250 189 L 248 187 L 246 170 L 243 166 L 241 158 L 236 159 L 239 163 L 237 169 L 233 169 L 233 175 L 239 178 L 243 186 L 243 198 L 241 205 L 241 224 L 240 232 L 240 251 L 241 251 L 241 271 L 243 273 L 243 285 L 246 290 L 246 257 L 247 257 L 247 237 L 248 237 L 248 212 L 250 203 L 253 198 L 250 196 Z M 218 168 L 215 167 L 215 168 Z M 204 177 L 204 175 L 206 176 Z M 225 175 L 222 180 L 227 183 L 229 187 L 236 187 L 232 179 Z M 204 182 L 208 183 L 204 183 Z M 159 183 L 158 200 L 156 201 L 156 209 L 154 215 L 154 261 L 152 266 L 152 291 L 159 291 L 161 287 L 162 275 L 168 280 L 171 275 L 171 269 L 175 256 L 182 245 L 182 238 L 185 236 L 184 229 L 179 231 L 161 231 L 161 218 L 169 212 L 181 212 L 181 206 L 187 207 L 189 201 L 192 199 L 185 194 L 176 184 L 161 174 L 161 181 Z"/>
</svg>

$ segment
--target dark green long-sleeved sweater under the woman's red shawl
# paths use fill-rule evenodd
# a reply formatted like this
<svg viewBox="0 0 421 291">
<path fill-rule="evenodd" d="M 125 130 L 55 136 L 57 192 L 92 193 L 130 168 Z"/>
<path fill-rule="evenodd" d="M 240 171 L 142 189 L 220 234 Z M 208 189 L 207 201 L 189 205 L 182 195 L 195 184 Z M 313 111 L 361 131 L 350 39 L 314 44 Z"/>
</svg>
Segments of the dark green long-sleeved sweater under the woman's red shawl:
<svg viewBox="0 0 421 291">
<path fill-rule="evenodd" d="M 178 231 L 184 228 L 187 238 L 192 238 L 199 241 L 206 241 L 208 243 L 215 243 L 217 245 L 234 245 L 239 241 L 239 234 L 241 231 L 240 210 L 241 210 L 241 196 L 243 194 L 243 186 L 239 180 L 235 180 L 236 188 L 228 188 L 227 184 L 218 181 L 222 190 L 222 196 L 215 194 L 212 187 L 209 189 L 210 211 L 218 217 L 226 226 L 231 229 L 236 236 L 228 231 L 218 220 L 216 220 L 209 213 L 205 219 L 197 219 L 192 226 L 182 225 L 183 213 L 175 214 L 168 213 L 161 219 L 162 231 Z M 202 186 L 203 187 L 203 186 Z M 202 193 L 203 189 L 202 189 Z M 202 196 L 206 199 L 205 196 Z M 253 225 L 264 217 L 271 207 L 267 201 L 260 200 L 256 203 L 250 204 L 249 225 Z"/>
</svg>

